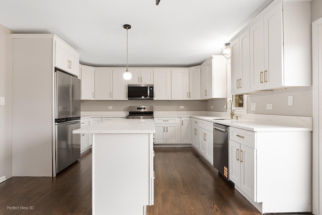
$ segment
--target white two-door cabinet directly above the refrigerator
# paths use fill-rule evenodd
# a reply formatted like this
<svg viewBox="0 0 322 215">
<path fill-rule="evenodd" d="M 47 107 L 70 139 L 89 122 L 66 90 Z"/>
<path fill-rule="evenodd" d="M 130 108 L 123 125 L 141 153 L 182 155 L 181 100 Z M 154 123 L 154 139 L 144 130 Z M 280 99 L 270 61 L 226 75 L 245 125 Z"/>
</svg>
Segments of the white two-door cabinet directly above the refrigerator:
<svg viewBox="0 0 322 215">
<path fill-rule="evenodd" d="M 79 76 L 78 52 L 59 38 L 55 39 L 55 67 Z"/>
</svg>

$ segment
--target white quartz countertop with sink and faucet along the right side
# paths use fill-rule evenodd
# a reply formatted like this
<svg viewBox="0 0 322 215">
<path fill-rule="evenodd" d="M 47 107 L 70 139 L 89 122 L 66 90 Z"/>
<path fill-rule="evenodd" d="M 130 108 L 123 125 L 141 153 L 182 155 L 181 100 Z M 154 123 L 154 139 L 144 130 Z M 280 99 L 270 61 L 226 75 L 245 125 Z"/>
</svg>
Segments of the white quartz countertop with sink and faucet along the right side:
<svg viewBox="0 0 322 215">
<path fill-rule="evenodd" d="M 202 119 L 214 123 L 219 123 L 235 128 L 250 130 L 250 131 L 312 131 L 310 127 L 302 126 L 289 126 L 271 124 L 267 122 L 251 121 L 245 119 L 229 119 L 225 117 L 213 117 L 213 116 L 192 116 L 196 119 Z"/>
</svg>

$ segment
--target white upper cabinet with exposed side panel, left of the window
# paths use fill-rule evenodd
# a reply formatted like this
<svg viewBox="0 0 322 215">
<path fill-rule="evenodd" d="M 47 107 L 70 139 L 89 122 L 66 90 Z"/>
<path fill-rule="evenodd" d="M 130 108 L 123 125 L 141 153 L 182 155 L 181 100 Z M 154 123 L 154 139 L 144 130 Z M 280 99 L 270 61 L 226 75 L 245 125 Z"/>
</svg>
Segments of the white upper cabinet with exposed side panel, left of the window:
<svg viewBox="0 0 322 215">
<path fill-rule="evenodd" d="M 201 64 L 201 99 L 226 98 L 227 61 L 212 55 Z"/>
</svg>

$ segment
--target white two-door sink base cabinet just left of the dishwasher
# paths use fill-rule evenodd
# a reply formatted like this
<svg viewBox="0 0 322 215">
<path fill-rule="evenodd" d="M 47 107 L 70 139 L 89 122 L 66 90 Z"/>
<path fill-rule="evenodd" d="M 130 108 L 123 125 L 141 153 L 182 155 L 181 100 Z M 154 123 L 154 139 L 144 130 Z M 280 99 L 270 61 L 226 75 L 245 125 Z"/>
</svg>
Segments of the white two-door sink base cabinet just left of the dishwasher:
<svg viewBox="0 0 322 215">
<path fill-rule="evenodd" d="M 192 118 L 192 146 L 213 165 L 213 123 Z"/>
</svg>

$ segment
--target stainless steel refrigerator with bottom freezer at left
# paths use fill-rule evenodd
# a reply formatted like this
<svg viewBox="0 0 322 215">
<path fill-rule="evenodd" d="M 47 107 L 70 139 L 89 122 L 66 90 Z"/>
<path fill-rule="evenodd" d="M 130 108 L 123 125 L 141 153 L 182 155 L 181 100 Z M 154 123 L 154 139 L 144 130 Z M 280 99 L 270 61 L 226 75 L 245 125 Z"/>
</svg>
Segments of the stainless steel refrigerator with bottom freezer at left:
<svg viewBox="0 0 322 215">
<path fill-rule="evenodd" d="M 55 148 L 56 173 L 81 157 L 81 80 L 55 70 Z"/>
</svg>

